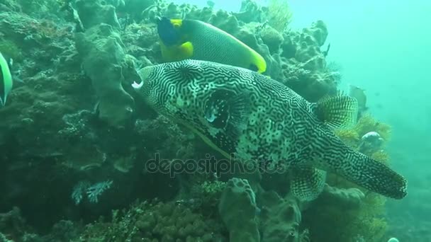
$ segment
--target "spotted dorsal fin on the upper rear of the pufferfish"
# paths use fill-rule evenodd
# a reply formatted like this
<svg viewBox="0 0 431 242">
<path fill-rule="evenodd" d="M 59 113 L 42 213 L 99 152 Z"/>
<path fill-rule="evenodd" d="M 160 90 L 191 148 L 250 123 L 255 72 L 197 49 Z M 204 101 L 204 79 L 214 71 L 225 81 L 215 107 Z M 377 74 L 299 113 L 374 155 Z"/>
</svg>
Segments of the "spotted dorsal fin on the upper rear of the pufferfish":
<svg viewBox="0 0 431 242">
<path fill-rule="evenodd" d="M 314 113 L 333 129 L 353 127 L 358 117 L 358 101 L 342 93 L 326 96 L 315 103 Z"/>
</svg>

